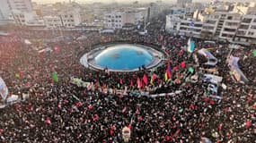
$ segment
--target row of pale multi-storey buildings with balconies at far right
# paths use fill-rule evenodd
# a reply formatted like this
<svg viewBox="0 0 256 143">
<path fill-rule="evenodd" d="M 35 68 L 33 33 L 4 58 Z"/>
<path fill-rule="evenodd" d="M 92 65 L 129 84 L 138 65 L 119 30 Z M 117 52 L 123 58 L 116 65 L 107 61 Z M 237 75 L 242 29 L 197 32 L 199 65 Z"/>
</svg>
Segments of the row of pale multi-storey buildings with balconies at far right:
<svg viewBox="0 0 256 143">
<path fill-rule="evenodd" d="M 165 29 L 169 33 L 195 38 L 218 39 L 244 45 L 256 43 L 256 11 L 244 15 L 216 11 L 194 17 L 197 18 L 167 15 Z"/>
</svg>

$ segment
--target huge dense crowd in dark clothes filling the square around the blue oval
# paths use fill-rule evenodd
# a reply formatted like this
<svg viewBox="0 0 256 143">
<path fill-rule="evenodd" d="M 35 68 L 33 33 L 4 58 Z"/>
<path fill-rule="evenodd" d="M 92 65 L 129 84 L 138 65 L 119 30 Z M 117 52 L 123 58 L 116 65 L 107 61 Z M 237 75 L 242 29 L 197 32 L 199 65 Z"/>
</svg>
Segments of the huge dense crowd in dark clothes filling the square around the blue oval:
<svg viewBox="0 0 256 143">
<path fill-rule="evenodd" d="M 189 67 L 195 69 L 191 74 L 200 70 L 192 54 L 182 48 L 188 38 L 148 29 L 143 36 L 121 30 L 114 34 L 63 31 L 61 38 L 56 38 L 59 31 L 18 29 L 1 38 L 0 77 L 9 95 L 29 94 L 30 98 L 0 109 L 0 142 L 123 142 L 124 127 L 131 130 L 130 142 L 255 142 L 256 57 L 252 50 L 256 47 L 232 52 L 241 58 L 239 66 L 250 80 L 243 84 L 230 75 L 225 61 L 230 51 L 227 45 L 194 39 L 198 49 L 210 48 L 218 59 L 215 68 L 227 87 L 217 93 L 223 97 L 220 100 L 206 96 L 202 80 L 186 81 L 191 76 Z M 31 40 L 31 45 L 24 39 Z M 154 45 L 165 53 L 166 61 L 154 70 L 134 72 L 96 71 L 79 63 L 93 46 L 116 41 Z M 52 47 L 52 51 L 39 53 L 36 48 L 42 47 Z M 172 68 L 170 80 L 164 77 L 167 64 Z M 53 71 L 57 72 L 57 82 L 52 78 Z M 138 88 L 137 79 L 144 75 L 148 80 L 153 75 L 156 78 Z M 93 89 L 77 87 L 70 83 L 71 77 L 92 82 Z M 103 88 L 155 88 L 150 94 L 181 93 L 137 97 L 103 93 Z"/>
</svg>

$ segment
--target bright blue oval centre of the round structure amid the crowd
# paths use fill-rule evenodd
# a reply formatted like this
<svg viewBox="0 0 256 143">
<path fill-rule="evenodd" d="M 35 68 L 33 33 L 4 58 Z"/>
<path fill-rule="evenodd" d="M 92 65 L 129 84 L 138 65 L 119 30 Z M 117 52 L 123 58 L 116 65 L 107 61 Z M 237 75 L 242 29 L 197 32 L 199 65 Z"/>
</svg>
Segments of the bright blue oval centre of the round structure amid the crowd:
<svg viewBox="0 0 256 143">
<path fill-rule="evenodd" d="M 113 70 L 135 70 L 154 61 L 145 48 L 132 45 L 110 46 L 95 56 L 95 63 Z"/>
</svg>

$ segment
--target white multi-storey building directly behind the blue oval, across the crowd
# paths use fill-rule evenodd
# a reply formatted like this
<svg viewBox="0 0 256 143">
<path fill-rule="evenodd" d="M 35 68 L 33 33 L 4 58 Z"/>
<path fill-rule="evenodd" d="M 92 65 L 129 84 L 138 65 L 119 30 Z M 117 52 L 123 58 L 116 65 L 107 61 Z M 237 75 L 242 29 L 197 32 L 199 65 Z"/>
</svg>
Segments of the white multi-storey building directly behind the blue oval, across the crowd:
<svg viewBox="0 0 256 143">
<path fill-rule="evenodd" d="M 143 19 L 144 16 L 141 12 L 113 12 L 105 14 L 104 23 L 107 29 L 122 29 L 126 23 L 137 25 Z"/>
</svg>

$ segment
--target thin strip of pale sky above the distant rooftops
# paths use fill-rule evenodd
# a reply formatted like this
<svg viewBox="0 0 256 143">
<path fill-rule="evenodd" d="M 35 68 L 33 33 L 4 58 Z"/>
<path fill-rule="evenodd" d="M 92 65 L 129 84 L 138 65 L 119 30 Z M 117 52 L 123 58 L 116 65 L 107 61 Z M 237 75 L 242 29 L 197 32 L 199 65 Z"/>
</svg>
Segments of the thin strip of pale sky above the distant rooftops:
<svg viewBox="0 0 256 143">
<path fill-rule="evenodd" d="M 32 2 L 36 2 L 39 4 L 49 4 L 49 3 L 56 3 L 56 2 L 66 2 L 68 3 L 69 0 L 31 0 Z M 74 1 L 74 0 L 72 0 Z M 113 2 L 118 2 L 118 3 L 132 3 L 135 2 L 136 0 L 75 0 L 77 3 L 95 3 L 95 2 L 102 2 L 102 3 L 113 3 Z M 138 3 L 150 3 L 150 2 L 156 2 L 156 0 L 137 0 Z M 177 0 L 162 0 L 164 3 L 176 3 Z M 254 0 L 220 0 L 220 1 L 225 1 L 225 2 L 252 2 Z M 193 2 L 202 2 L 202 3 L 207 3 L 210 2 L 210 0 L 193 0 Z"/>
</svg>

